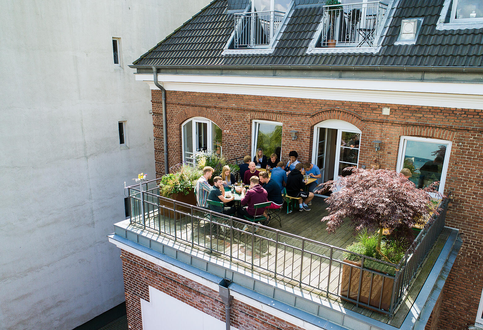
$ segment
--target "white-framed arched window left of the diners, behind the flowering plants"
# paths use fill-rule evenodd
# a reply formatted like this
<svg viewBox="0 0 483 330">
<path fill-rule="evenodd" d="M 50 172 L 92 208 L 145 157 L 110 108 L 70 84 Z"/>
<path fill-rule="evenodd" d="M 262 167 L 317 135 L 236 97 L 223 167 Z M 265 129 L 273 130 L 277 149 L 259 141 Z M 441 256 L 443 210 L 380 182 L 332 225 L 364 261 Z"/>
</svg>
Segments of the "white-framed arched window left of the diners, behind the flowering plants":
<svg viewBox="0 0 483 330">
<path fill-rule="evenodd" d="M 192 161 L 197 152 L 215 150 L 221 154 L 221 129 L 210 119 L 195 117 L 182 127 L 183 161 Z"/>
</svg>

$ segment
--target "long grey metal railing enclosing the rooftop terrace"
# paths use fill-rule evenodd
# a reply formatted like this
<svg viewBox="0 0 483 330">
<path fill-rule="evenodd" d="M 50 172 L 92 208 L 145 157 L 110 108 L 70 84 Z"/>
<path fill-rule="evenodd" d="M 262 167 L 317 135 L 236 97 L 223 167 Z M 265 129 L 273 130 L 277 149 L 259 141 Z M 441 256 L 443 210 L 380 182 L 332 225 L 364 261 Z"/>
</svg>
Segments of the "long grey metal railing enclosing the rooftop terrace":
<svg viewBox="0 0 483 330">
<path fill-rule="evenodd" d="M 388 315 L 403 300 L 439 237 L 449 201 L 443 199 L 440 214 L 428 221 L 396 265 L 162 197 L 156 180 L 128 187 L 128 197 L 130 224 L 207 251 L 262 277 L 324 291 Z M 248 231 L 241 229 L 245 225 Z"/>
</svg>

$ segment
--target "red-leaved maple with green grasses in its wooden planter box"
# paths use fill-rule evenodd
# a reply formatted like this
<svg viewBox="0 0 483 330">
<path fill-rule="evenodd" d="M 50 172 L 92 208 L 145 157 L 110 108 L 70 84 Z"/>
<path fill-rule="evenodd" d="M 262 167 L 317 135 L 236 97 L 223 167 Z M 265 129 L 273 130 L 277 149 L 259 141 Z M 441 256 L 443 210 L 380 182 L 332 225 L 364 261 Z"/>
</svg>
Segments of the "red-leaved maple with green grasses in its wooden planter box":
<svg viewBox="0 0 483 330">
<path fill-rule="evenodd" d="M 356 242 L 358 244 L 347 250 L 394 264 L 388 266 L 371 260 L 360 264 L 361 258 L 358 255 L 344 260 L 346 264 L 342 267 L 341 295 L 350 299 L 355 299 L 354 297 L 359 295 L 359 301 L 368 304 L 372 275 L 371 272 L 363 270 L 361 291 L 357 292 L 360 276 L 360 269 L 357 267 L 394 275 L 395 266 L 400 261 L 400 258 L 397 260 L 400 253 L 389 253 L 389 251 L 400 251 L 400 249 L 405 251 L 407 247 L 406 243 L 401 241 L 394 244 L 383 241 L 384 228 L 389 229 L 393 236 L 406 237 L 409 244 L 408 238 L 412 238 L 412 227 L 424 225 L 430 214 L 436 212 L 437 206 L 431 202 L 428 194 L 428 192 L 434 192 L 433 186 L 418 189 L 414 183 L 396 171 L 364 170 L 356 167 L 348 170 L 352 172 L 351 175 L 338 178 L 337 185 L 341 187 L 339 191 L 336 191 L 336 182 L 330 181 L 325 184 L 333 193 L 326 199 L 329 214 L 322 218 L 322 221 L 327 221 L 328 232 L 334 232 L 339 228 L 345 218 L 350 218 L 359 232 L 364 229 L 375 232 L 370 236 L 373 248 L 367 249 L 367 246 L 361 243 L 363 239 L 358 239 Z M 351 264 L 356 267 L 352 267 Z M 381 308 L 386 309 L 390 306 L 394 281 L 384 280 L 383 286 L 383 279 L 383 275 L 373 276 L 369 305 L 379 308 L 381 302 Z M 379 298 L 381 290 L 383 291 L 382 301 Z"/>
</svg>

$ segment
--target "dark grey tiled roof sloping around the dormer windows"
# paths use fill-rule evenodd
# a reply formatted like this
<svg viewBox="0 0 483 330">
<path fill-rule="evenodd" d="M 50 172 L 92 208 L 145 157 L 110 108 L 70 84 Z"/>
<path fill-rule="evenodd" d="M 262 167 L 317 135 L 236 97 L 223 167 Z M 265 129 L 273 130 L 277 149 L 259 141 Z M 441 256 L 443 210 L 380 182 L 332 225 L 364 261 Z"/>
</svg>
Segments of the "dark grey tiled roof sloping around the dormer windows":
<svg viewBox="0 0 483 330">
<path fill-rule="evenodd" d="M 437 30 L 444 0 L 400 0 L 378 53 L 307 54 L 321 7 L 295 7 L 271 54 L 222 52 L 233 32 L 227 0 L 214 0 L 133 64 L 206 66 L 483 66 L 483 28 Z M 394 45 L 403 18 L 424 17 L 414 45 Z"/>
</svg>

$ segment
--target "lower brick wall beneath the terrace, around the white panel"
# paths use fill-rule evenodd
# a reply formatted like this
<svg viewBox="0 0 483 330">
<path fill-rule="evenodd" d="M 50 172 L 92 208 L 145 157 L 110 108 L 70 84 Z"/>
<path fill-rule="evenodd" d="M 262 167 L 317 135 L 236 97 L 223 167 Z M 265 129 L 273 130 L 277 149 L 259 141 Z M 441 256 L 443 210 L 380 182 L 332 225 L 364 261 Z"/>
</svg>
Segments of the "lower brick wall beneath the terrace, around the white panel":
<svg viewBox="0 0 483 330">
<path fill-rule="evenodd" d="M 225 322 L 225 303 L 218 291 L 207 288 L 132 253 L 121 250 L 128 329 L 141 330 L 141 299 L 149 300 L 149 286 Z M 302 330 L 278 317 L 233 300 L 230 324 L 239 330 Z"/>
</svg>

